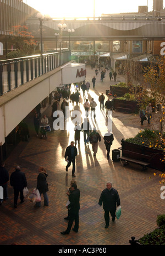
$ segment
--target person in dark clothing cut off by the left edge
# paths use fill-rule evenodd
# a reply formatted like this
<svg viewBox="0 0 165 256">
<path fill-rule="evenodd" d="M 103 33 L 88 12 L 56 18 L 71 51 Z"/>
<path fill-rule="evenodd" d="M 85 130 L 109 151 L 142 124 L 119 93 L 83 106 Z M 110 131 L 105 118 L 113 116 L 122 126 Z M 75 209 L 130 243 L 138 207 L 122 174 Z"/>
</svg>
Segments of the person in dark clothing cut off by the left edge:
<svg viewBox="0 0 165 256">
<path fill-rule="evenodd" d="M 8 170 L 4 167 L 4 162 L 0 163 L 0 186 L 3 187 L 4 193 L 4 200 L 8 199 L 8 180 L 9 180 L 9 173 Z M 3 201 L 3 198 L 0 198 L 0 205 Z"/>
</svg>

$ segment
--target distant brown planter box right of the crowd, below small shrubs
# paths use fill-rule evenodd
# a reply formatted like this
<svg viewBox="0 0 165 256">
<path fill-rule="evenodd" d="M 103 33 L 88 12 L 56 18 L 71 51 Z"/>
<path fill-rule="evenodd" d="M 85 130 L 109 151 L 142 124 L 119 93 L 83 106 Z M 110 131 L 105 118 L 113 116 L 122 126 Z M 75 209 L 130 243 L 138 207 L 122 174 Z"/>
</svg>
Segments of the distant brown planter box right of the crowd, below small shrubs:
<svg viewBox="0 0 165 256">
<path fill-rule="evenodd" d="M 114 109 L 118 111 L 137 112 L 139 111 L 138 102 L 114 99 Z"/>
</svg>

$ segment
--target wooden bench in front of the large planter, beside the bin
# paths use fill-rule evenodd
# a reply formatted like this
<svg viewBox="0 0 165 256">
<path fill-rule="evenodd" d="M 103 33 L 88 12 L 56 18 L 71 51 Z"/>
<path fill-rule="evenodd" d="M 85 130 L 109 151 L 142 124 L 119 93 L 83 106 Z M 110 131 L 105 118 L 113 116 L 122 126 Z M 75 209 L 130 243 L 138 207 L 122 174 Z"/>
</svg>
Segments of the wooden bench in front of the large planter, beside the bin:
<svg viewBox="0 0 165 256">
<path fill-rule="evenodd" d="M 119 157 L 120 162 L 122 163 L 123 166 L 128 164 L 128 162 L 131 162 L 131 163 L 141 165 L 142 170 L 146 170 L 147 166 L 150 165 L 149 163 L 150 158 L 151 158 L 150 155 L 140 154 L 130 150 L 122 150 L 122 156 Z M 124 164 L 123 164 L 123 160 L 124 160 Z"/>
</svg>

